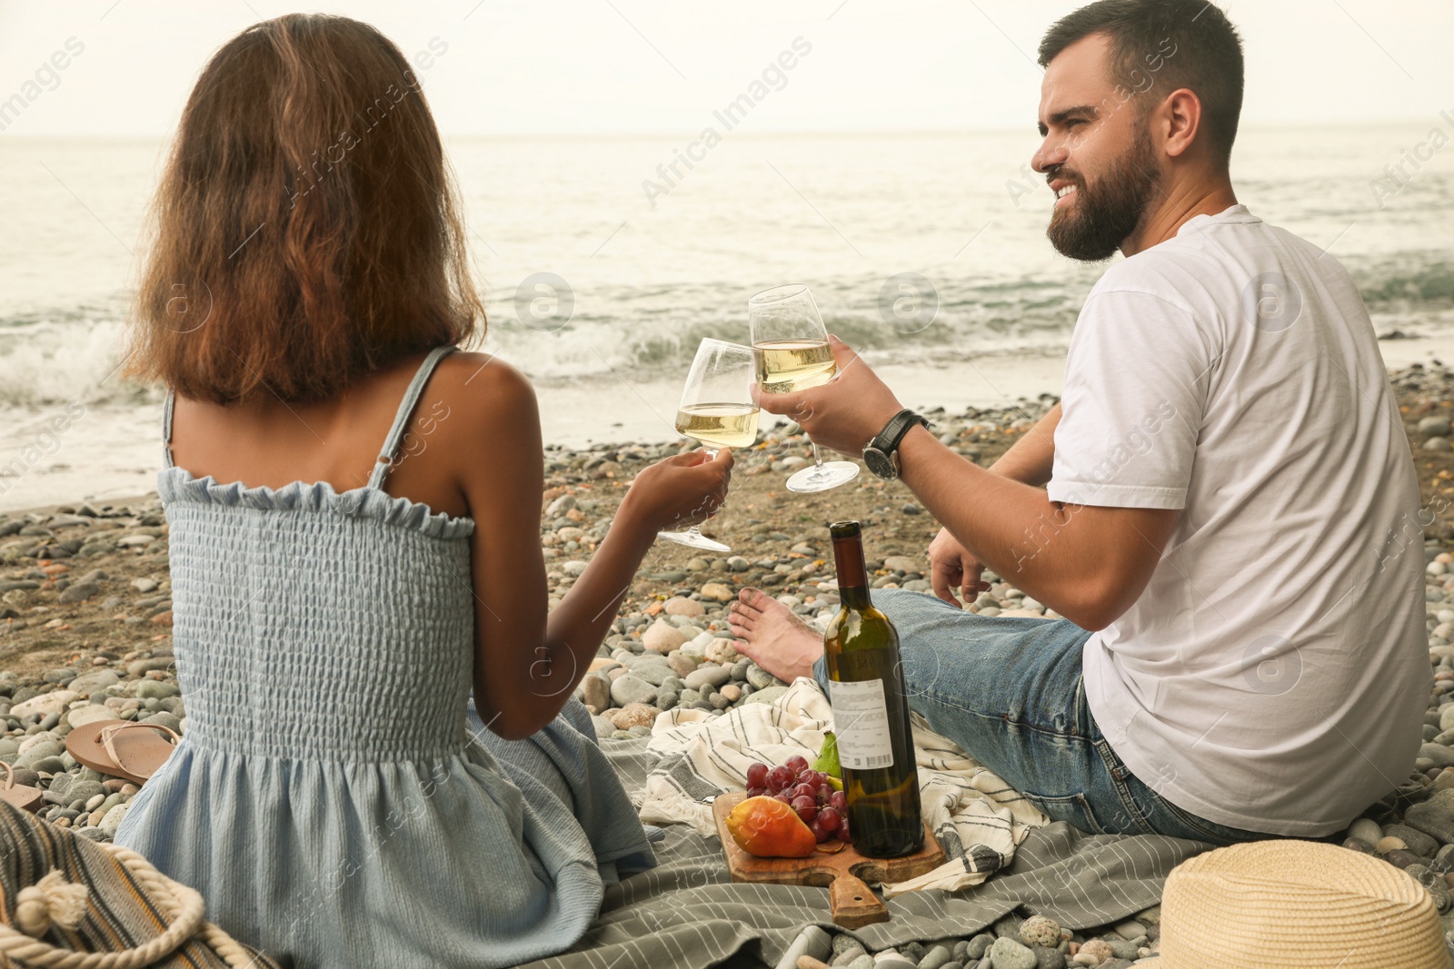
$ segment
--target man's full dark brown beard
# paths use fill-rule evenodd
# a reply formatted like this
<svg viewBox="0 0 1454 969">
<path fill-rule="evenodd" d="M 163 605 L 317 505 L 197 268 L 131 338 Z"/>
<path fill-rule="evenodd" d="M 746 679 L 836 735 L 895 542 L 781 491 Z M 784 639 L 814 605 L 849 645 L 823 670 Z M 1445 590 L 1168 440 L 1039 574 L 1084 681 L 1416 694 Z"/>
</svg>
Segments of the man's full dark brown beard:
<svg viewBox="0 0 1454 969">
<path fill-rule="evenodd" d="M 1160 169 L 1152 142 L 1138 134 L 1095 182 L 1072 174 L 1076 198 L 1051 212 L 1045 235 L 1061 256 L 1088 263 L 1111 259 L 1140 227 L 1157 190 Z"/>
</svg>

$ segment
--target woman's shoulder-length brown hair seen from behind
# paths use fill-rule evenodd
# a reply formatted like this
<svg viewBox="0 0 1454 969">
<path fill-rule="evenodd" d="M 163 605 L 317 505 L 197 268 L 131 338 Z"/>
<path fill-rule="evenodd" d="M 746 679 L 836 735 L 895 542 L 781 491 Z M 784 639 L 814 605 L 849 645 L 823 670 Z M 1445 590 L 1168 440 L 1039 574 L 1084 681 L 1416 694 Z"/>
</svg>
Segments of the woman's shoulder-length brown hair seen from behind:
<svg viewBox="0 0 1454 969">
<path fill-rule="evenodd" d="M 228 41 L 154 209 L 126 369 L 182 397 L 329 400 L 483 334 L 433 116 L 366 23 L 288 15 Z"/>
</svg>

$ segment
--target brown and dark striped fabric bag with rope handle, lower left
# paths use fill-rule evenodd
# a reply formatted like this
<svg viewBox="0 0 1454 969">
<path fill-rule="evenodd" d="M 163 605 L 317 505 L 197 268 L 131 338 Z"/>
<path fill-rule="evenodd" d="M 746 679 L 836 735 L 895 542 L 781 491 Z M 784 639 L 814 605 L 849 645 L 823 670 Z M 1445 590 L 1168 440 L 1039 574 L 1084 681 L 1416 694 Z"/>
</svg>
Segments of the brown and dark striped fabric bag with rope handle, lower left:
<svg viewBox="0 0 1454 969">
<path fill-rule="evenodd" d="M 150 866 L 144 866 L 147 876 L 138 876 L 116 851 L 124 850 L 44 824 L 19 808 L 0 802 L 0 921 L 6 927 L 15 925 L 20 889 L 35 885 L 54 869 L 65 882 L 89 886 L 86 911 L 74 928 L 52 925 L 39 941 L 76 953 L 115 953 L 157 938 L 173 924 L 167 914 L 173 907 L 145 883 L 147 877 L 156 877 Z M 225 969 L 244 965 L 250 969 L 279 969 L 276 962 L 257 950 L 212 933 L 215 928 L 201 921 L 198 930 L 170 954 L 147 965 L 166 969 Z M 212 943 L 228 950 L 231 959 L 224 959 L 220 947 L 208 941 L 208 934 L 212 934 Z M 15 944 L 23 940 L 10 936 L 6 941 Z M 20 965 L 0 954 L 0 968 Z"/>
</svg>

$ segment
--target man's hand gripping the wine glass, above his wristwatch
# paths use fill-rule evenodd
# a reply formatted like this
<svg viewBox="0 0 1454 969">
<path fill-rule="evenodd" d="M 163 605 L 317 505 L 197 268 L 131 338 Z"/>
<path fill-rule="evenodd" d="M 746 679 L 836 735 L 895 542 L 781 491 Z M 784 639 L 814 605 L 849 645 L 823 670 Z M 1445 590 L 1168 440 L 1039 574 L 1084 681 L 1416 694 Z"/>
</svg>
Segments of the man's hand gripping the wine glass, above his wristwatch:
<svg viewBox="0 0 1454 969">
<path fill-rule="evenodd" d="M 823 386 L 794 394 L 758 392 L 758 402 L 769 414 L 795 420 L 813 443 L 858 455 L 903 405 L 846 343 L 838 337 L 829 337 L 827 343 L 838 362 L 838 376 Z"/>
</svg>

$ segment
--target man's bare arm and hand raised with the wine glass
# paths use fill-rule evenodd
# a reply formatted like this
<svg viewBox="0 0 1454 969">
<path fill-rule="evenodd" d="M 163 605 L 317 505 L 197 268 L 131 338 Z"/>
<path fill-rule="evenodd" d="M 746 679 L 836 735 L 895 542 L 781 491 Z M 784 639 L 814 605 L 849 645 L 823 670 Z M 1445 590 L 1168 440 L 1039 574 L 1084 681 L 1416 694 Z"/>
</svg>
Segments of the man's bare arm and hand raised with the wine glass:
<svg viewBox="0 0 1454 969">
<path fill-rule="evenodd" d="M 859 453 L 903 408 L 848 344 L 835 338 L 832 346 L 836 379 L 797 394 L 760 394 L 760 404 L 797 420 L 814 442 Z M 1045 442 L 1037 442 L 1016 445 L 1024 450 L 1015 462 L 1048 479 Z M 1053 456 L 1053 442 L 1045 450 Z M 1083 629 L 1105 628 L 1136 601 L 1176 523 L 1175 510 L 1054 503 L 997 474 L 999 465 L 990 472 L 955 455 L 923 427 L 904 436 L 900 462 L 903 482 L 964 548 Z"/>
</svg>

